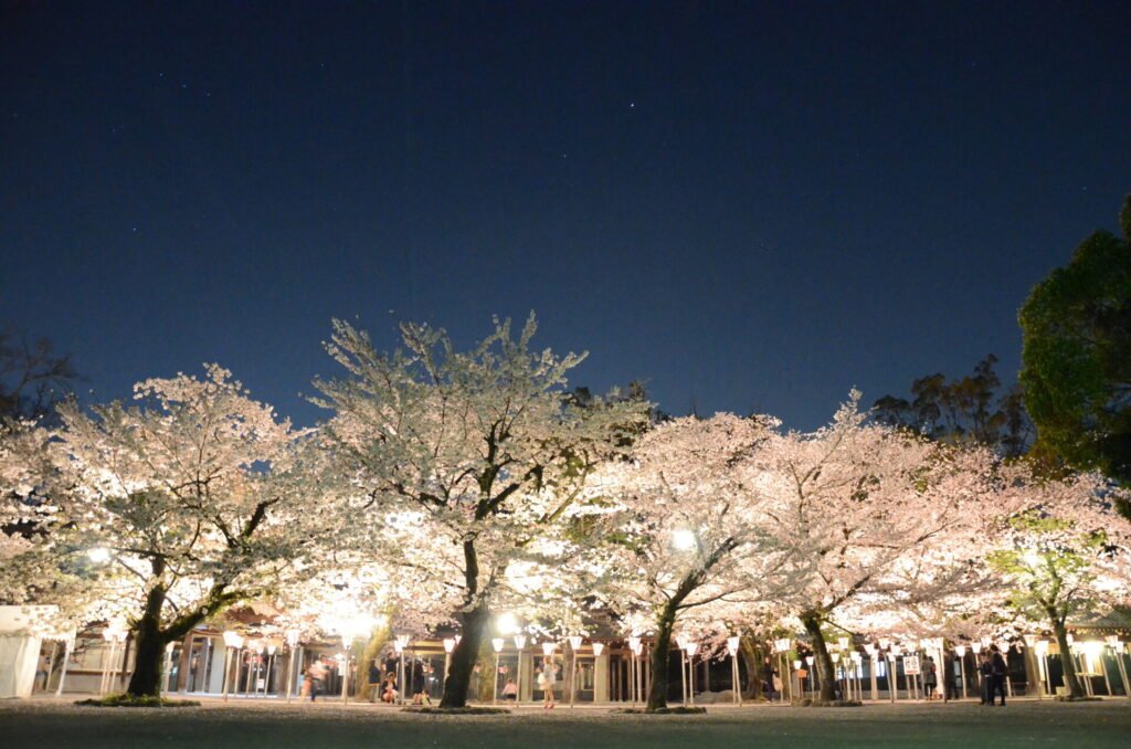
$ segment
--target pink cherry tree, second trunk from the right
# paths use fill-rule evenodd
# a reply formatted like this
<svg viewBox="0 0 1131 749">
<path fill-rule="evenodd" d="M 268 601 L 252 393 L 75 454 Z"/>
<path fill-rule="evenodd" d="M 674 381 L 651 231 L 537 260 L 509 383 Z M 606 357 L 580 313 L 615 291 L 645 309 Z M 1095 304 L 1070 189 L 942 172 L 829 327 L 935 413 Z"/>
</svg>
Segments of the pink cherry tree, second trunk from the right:
<svg viewBox="0 0 1131 749">
<path fill-rule="evenodd" d="M 780 604 L 812 639 L 823 701 L 835 681 L 826 628 L 950 595 L 986 549 L 992 457 L 869 424 L 858 399 L 815 432 L 776 434 L 750 479 L 769 497 L 763 530 L 809 566 Z"/>
</svg>

